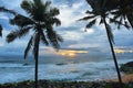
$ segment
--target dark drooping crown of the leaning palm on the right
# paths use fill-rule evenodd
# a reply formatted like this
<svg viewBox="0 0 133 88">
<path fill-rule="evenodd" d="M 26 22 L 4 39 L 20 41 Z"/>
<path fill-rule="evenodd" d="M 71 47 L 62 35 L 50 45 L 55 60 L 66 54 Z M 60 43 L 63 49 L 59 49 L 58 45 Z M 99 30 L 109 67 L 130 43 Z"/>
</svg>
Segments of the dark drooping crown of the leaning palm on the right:
<svg viewBox="0 0 133 88">
<path fill-rule="evenodd" d="M 93 26 L 95 23 L 105 24 L 109 33 L 109 37 L 111 38 L 112 43 L 114 43 L 114 41 L 113 41 L 113 33 L 110 23 L 116 24 L 117 29 L 120 29 L 121 25 L 125 26 L 126 29 L 130 29 L 130 24 L 125 19 L 123 19 L 123 16 L 127 16 L 127 20 L 130 21 L 131 25 L 133 25 L 133 19 L 131 18 L 133 13 L 132 11 L 126 11 L 126 12 L 121 11 L 125 9 L 125 7 L 122 8 L 120 6 L 121 0 L 110 0 L 110 1 L 86 0 L 86 2 L 91 6 L 92 11 L 88 10 L 86 11 L 88 16 L 80 19 L 80 21 L 89 21 L 89 23 L 86 24 L 86 29 Z M 126 4 L 126 7 L 129 4 Z M 112 16 L 110 16 L 111 14 Z M 106 20 L 109 20 L 109 22 Z"/>
</svg>

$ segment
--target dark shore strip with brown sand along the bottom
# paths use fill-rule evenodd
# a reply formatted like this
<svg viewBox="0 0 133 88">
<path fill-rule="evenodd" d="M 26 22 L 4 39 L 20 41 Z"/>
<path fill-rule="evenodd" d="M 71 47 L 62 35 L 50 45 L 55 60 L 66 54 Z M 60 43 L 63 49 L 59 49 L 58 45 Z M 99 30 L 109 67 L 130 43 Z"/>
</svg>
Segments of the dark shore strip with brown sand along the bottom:
<svg viewBox="0 0 133 88">
<path fill-rule="evenodd" d="M 123 86 L 133 88 L 133 74 L 122 76 Z M 117 79 L 94 81 L 39 80 L 39 88 L 120 88 Z M 0 84 L 0 88 L 33 88 L 33 80 Z"/>
</svg>

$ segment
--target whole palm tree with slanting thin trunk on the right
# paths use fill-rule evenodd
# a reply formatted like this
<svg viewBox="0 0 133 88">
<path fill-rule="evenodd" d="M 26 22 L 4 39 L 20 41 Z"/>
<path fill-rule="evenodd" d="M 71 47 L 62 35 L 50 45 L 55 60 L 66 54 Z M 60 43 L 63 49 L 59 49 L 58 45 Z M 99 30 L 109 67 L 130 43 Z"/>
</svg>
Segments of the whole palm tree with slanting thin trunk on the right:
<svg viewBox="0 0 133 88">
<path fill-rule="evenodd" d="M 111 47 L 111 52 L 112 52 L 112 56 L 113 56 L 113 61 L 115 64 L 115 69 L 117 73 L 119 82 L 122 88 L 122 78 L 121 78 L 121 74 L 120 74 L 120 69 L 119 69 L 119 65 L 117 65 L 117 61 L 116 61 L 116 56 L 115 56 L 114 47 L 113 47 L 113 44 L 114 44 L 113 33 L 112 33 L 111 25 L 109 23 L 124 25 L 127 29 L 130 26 L 129 26 L 129 24 L 122 23 L 121 21 L 117 21 L 110 16 L 111 11 L 113 11 L 114 9 L 117 8 L 119 0 L 110 0 L 110 1 L 108 1 L 108 0 L 86 0 L 86 2 L 91 6 L 92 11 L 88 10 L 86 11 L 88 16 L 80 19 L 80 21 L 89 21 L 89 23 L 86 24 L 86 29 L 93 26 L 95 23 L 104 24 L 108 40 L 109 40 L 110 47 Z M 100 19 L 100 21 L 99 21 L 99 19 Z M 110 22 L 108 20 L 110 20 Z"/>
</svg>

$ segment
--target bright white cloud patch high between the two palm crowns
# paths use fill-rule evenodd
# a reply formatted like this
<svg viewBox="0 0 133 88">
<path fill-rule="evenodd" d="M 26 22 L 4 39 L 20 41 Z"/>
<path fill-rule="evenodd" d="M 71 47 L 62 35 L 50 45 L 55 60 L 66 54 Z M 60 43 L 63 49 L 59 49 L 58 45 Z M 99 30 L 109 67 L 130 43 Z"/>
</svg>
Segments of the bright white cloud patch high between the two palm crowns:
<svg viewBox="0 0 133 88">
<path fill-rule="evenodd" d="M 76 20 L 82 18 L 83 10 L 81 9 L 83 6 L 83 2 L 81 3 L 73 3 L 72 7 L 69 7 L 66 4 L 60 6 L 60 15 L 58 16 L 62 25 L 61 26 L 73 26 L 76 23 Z"/>
</svg>

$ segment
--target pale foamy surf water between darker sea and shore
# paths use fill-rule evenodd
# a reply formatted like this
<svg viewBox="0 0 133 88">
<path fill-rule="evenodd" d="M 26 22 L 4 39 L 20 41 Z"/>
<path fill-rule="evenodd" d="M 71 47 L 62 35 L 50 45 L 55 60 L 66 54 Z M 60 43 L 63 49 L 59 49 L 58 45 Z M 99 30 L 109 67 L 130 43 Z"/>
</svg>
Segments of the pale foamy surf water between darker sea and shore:
<svg viewBox="0 0 133 88">
<path fill-rule="evenodd" d="M 132 59 L 120 59 L 119 64 Z M 39 79 L 57 80 L 98 80 L 116 77 L 112 59 L 104 62 L 66 63 L 66 64 L 40 64 Z M 34 78 L 34 65 L 0 64 L 0 84 L 22 81 Z"/>
</svg>

